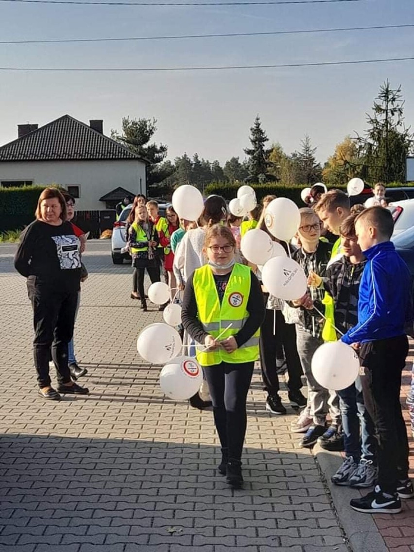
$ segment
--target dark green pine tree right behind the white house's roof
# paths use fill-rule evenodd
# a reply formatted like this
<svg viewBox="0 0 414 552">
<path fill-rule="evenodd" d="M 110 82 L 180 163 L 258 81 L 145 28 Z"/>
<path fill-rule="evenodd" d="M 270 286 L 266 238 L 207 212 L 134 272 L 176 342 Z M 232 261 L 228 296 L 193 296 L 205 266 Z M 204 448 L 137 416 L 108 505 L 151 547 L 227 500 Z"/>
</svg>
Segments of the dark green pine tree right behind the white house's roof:
<svg viewBox="0 0 414 552">
<path fill-rule="evenodd" d="M 157 119 L 130 119 L 122 118 L 122 134 L 111 130 L 111 138 L 120 142 L 133 153 L 143 157 L 147 164 L 147 185 L 163 181 L 171 173 L 171 167 L 163 164 L 167 156 L 168 147 L 164 144 L 157 146 L 155 142 L 150 144 L 152 136 L 157 130 Z"/>
</svg>

